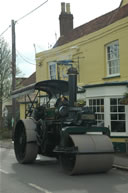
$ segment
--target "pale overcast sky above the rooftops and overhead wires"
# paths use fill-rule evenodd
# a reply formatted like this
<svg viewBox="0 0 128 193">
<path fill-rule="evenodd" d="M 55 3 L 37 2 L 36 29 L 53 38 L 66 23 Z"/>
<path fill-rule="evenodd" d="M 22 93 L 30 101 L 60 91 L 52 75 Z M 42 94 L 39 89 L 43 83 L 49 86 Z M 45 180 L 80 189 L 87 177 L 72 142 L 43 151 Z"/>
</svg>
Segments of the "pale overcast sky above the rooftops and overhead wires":
<svg viewBox="0 0 128 193">
<path fill-rule="evenodd" d="M 36 69 L 35 53 L 52 48 L 60 36 L 61 2 L 70 3 L 74 28 L 119 7 L 121 0 L 48 0 L 43 6 L 24 17 L 46 0 L 3 0 L 0 2 L 0 35 L 11 49 L 11 20 L 16 23 L 16 65 L 24 77 Z"/>
</svg>

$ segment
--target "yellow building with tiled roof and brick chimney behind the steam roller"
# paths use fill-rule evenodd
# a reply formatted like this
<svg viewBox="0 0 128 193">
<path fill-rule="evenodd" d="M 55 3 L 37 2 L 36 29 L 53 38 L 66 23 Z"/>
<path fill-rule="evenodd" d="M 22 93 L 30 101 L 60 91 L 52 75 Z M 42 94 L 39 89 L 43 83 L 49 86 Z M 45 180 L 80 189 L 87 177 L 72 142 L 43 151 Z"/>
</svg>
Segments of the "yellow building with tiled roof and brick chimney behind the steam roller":
<svg viewBox="0 0 128 193">
<path fill-rule="evenodd" d="M 128 92 L 128 0 L 75 29 L 70 5 L 61 6 L 60 38 L 37 54 L 36 81 L 67 79 L 67 68 L 77 67 L 97 124 L 109 127 L 113 140 L 128 144 L 128 106 L 120 103 Z"/>
</svg>

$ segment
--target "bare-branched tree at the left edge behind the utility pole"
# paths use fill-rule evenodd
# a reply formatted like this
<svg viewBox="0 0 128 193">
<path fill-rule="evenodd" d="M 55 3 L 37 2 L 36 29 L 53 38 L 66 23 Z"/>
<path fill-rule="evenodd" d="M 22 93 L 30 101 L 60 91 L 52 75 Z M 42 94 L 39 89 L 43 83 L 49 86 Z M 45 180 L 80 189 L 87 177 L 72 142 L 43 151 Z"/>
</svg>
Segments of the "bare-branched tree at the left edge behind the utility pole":
<svg viewBox="0 0 128 193">
<path fill-rule="evenodd" d="M 2 104 L 11 92 L 11 51 L 7 42 L 0 39 L 0 129 L 2 129 Z"/>
</svg>

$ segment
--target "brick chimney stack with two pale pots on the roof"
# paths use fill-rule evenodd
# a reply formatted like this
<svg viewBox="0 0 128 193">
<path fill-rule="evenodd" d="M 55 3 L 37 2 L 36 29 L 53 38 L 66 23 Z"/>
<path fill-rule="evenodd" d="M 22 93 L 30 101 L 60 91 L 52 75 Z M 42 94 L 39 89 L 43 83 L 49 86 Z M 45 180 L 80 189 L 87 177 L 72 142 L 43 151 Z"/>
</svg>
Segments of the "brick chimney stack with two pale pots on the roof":
<svg viewBox="0 0 128 193">
<path fill-rule="evenodd" d="M 65 9 L 66 8 L 66 9 Z M 73 15 L 70 12 L 70 3 L 61 3 L 60 20 L 60 36 L 67 35 L 73 30 Z"/>
</svg>

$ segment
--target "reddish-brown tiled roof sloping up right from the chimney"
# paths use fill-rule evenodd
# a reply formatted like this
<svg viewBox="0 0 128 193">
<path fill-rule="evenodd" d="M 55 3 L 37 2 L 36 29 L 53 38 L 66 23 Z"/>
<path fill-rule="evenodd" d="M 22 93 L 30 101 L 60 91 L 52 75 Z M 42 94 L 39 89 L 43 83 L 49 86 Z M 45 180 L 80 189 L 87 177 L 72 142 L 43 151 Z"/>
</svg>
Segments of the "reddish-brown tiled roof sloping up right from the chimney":
<svg viewBox="0 0 128 193">
<path fill-rule="evenodd" d="M 100 30 L 127 16 L 128 16 L 128 4 L 73 29 L 66 36 L 61 36 L 54 45 L 54 48 L 62 46 L 68 42 L 74 41 L 82 36 L 93 33 L 97 30 Z"/>
</svg>

